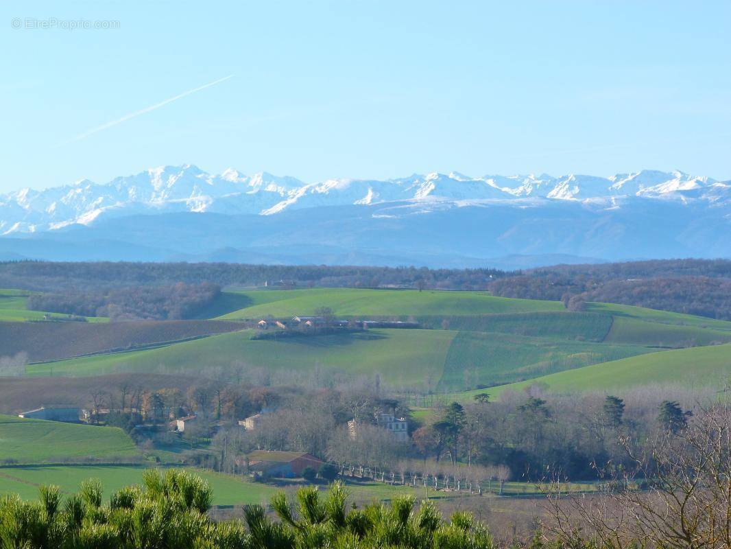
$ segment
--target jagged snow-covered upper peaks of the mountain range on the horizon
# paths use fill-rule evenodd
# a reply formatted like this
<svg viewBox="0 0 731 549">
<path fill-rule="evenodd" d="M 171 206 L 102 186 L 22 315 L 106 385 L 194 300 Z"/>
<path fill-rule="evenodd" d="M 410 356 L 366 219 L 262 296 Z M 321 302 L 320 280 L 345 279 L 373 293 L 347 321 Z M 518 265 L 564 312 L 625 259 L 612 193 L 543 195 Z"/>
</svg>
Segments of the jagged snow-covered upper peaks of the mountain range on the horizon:
<svg viewBox="0 0 731 549">
<path fill-rule="evenodd" d="M 105 184 L 83 180 L 63 187 L 23 189 L 0 196 L 0 234 L 57 231 L 136 214 L 209 212 L 273 216 L 321 206 L 404 207 L 378 209 L 374 215 L 435 212 L 481 206 L 535 207 L 556 201 L 606 210 L 628 201 L 693 203 L 727 210 L 731 215 L 731 182 L 680 171 L 640 171 L 611 177 L 571 174 L 548 176 L 482 176 L 429 173 L 385 181 L 328 179 L 306 184 L 293 177 L 257 173 L 246 176 L 228 169 L 218 175 L 194 165 L 165 166 Z"/>
</svg>

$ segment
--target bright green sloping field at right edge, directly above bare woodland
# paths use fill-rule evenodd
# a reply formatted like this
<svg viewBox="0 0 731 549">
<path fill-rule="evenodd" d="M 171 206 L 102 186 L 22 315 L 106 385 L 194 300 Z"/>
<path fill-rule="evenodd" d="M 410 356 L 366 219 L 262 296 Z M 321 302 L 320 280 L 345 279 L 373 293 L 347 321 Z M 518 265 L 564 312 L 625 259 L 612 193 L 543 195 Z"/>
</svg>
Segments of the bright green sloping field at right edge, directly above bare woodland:
<svg viewBox="0 0 731 549">
<path fill-rule="evenodd" d="M 721 388 L 730 381 L 730 376 L 731 345 L 719 345 L 632 356 L 491 389 L 453 393 L 449 397 L 469 401 L 480 392 L 497 396 L 532 384 L 540 384 L 551 392 L 621 392 L 653 384 L 679 384 L 688 389 Z"/>
</svg>

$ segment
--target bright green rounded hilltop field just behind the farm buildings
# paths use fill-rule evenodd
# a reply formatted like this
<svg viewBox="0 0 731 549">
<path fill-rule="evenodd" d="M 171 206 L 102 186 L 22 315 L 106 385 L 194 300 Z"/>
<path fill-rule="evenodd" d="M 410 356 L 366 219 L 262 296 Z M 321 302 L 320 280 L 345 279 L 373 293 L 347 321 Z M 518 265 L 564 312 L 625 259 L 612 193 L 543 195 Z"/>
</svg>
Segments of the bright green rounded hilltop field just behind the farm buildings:
<svg viewBox="0 0 731 549">
<path fill-rule="evenodd" d="M 564 310 L 560 302 L 495 297 L 480 291 L 371 290 L 312 288 L 308 290 L 254 290 L 238 292 L 250 305 L 220 319 L 287 318 L 313 315 L 330 307 L 336 315 L 485 315 Z"/>
</svg>

